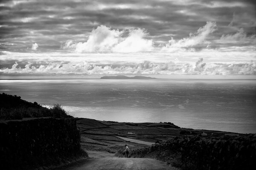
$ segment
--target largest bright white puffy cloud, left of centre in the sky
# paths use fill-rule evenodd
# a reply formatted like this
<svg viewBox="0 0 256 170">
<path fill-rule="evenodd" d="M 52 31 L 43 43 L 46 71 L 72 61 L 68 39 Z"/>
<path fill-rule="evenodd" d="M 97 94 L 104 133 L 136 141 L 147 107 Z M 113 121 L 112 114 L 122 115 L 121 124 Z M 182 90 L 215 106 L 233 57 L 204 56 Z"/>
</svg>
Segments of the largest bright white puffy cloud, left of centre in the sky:
<svg viewBox="0 0 256 170">
<path fill-rule="evenodd" d="M 63 49 L 75 49 L 76 52 L 146 52 L 153 49 L 153 41 L 145 39 L 145 29 L 111 29 L 101 25 L 93 29 L 86 42 L 74 43 L 67 40 Z"/>
</svg>

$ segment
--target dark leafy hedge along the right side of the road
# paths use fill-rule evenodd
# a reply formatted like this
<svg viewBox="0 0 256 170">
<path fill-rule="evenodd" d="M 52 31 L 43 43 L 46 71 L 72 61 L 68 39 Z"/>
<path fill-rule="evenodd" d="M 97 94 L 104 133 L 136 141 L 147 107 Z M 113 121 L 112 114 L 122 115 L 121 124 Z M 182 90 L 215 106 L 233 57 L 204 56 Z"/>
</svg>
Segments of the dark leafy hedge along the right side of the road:
<svg viewBox="0 0 256 170">
<path fill-rule="evenodd" d="M 116 156 L 122 153 L 119 150 Z M 131 150 L 130 156 L 157 158 L 183 170 L 251 170 L 256 160 L 256 136 L 180 136 Z"/>
</svg>

